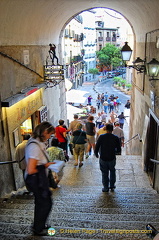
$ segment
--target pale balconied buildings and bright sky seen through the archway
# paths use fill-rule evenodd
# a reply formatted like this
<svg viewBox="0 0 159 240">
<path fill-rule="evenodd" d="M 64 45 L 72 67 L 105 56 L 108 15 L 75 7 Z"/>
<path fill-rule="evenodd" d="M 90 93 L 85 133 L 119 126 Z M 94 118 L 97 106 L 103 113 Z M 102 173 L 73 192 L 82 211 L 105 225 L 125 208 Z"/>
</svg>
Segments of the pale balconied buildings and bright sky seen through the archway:
<svg viewBox="0 0 159 240">
<path fill-rule="evenodd" d="M 107 43 L 117 47 L 132 42 L 130 25 L 120 14 L 108 9 L 93 9 L 74 17 L 63 35 L 63 64 L 72 88 L 93 80 L 89 69 L 96 68 L 96 51 Z M 130 44 L 131 45 L 131 44 Z"/>
</svg>

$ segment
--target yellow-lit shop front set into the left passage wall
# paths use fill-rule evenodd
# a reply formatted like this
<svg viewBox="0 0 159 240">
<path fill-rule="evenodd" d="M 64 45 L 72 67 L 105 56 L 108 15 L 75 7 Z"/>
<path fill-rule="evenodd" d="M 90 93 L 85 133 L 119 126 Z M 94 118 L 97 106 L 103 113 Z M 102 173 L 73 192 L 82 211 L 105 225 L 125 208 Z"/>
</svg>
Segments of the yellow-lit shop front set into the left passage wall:
<svg viewBox="0 0 159 240">
<path fill-rule="evenodd" d="M 36 125 L 47 120 L 47 107 L 43 106 L 43 85 L 26 89 L 25 93 L 2 101 L 2 116 L 7 126 L 11 158 L 14 160 L 16 146 L 23 134 L 31 134 Z M 16 188 L 21 182 L 18 164 L 13 164 Z"/>
</svg>

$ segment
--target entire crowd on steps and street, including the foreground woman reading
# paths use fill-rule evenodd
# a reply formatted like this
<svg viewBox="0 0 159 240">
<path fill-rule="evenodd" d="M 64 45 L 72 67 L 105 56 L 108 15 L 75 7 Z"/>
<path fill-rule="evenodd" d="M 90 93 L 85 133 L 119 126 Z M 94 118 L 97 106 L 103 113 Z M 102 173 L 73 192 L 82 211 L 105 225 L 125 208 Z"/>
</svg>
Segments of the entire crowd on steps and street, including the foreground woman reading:
<svg viewBox="0 0 159 240">
<path fill-rule="evenodd" d="M 75 114 L 68 126 L 60 119 L 56 127 L 42 122 L 34 129 L 32 137 L 23 136 L 23 142 L 16 149 L 15 158 L 23 172 L 26 188 L 35 197 L 34 235 L 47 235 L 50 227 L 46 221 L 52 207 L 51 188 L 58 188 L 63 176 L 63 169 L 59 172 L 49 170 L 51 165 L 56 164 L 55 160 L 67 162 L 72 157 L 74 167 L 81 168 L 84 158 L 93 154 L 99 157 L 102 191 L 113 191 L 116 187 L 116 155 L 121 155 L 124 147 L 126 118 L 123 112 L 118 115 L 118 97 L 98 94 L 97 113 L 92 112 L 91 100 L 89 96 L 87 119 L 80 119 Z M 130 108 L 130 102 L 126 104 L 125 107 Z"/>
</svg>

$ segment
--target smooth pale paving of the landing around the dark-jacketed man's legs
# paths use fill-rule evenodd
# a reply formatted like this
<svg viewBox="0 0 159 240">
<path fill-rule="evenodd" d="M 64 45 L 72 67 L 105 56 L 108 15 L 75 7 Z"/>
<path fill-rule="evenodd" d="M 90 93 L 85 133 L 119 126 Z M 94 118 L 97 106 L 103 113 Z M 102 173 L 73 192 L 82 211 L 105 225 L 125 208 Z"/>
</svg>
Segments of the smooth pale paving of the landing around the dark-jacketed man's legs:
<svg viewBox="0 0 159 240">
<path fill-rule="evenodd" d="M 116 161 L 117 187 L 145 187 L 151 188 L 149 178 L 142 169 L 141 156 L 121 155 Z M 84 165 L 74 167 L 73 156 L 66 163 L 62 185 L 72 186 L 101 186 L 101 171 L 99 169 L 99 159 L 91 155 L 84 160 Z"/>
</svg>

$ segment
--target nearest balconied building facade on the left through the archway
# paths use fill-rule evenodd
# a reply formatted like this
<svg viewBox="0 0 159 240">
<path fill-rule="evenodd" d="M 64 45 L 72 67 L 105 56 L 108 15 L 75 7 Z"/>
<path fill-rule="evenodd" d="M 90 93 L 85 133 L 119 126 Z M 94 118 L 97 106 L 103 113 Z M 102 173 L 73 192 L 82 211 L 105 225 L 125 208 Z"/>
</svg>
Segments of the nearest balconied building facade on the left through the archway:
<svg viewBox="0 0 159 240">
<path fill-rule="evenodd" d="M 66 66 L 66 78 L 72 88 L 81 86 L 83 79 L 83 18 L 75 16 L 65 27 L 62 39 L 63 64 Z"/>
</svg>

